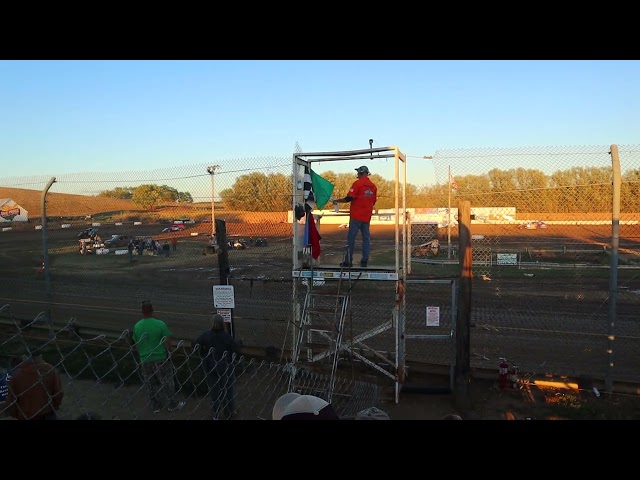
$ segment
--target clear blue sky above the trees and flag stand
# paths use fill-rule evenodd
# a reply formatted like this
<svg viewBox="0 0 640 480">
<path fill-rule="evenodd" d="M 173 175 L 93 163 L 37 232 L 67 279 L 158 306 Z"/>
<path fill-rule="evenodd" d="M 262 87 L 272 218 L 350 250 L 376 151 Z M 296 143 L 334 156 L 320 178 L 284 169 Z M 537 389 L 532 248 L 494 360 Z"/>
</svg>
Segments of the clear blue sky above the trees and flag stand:
<svg viewBox="0 0 640 480">
<path fill-rule="evenodd" d="M 640 144 L 640 61 L 0 61 L 5 178 L 251 167 L 370 138 L 416 185 L 442 149 Z"/>
</svg>

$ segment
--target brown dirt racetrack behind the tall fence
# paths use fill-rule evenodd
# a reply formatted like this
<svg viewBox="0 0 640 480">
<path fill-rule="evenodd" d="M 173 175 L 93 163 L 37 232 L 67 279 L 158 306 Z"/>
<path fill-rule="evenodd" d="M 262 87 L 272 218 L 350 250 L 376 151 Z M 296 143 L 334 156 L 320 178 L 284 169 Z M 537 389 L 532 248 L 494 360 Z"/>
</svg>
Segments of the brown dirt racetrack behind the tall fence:
<svg viewBox="0 0 640 480">
<path fill-rule="evenodd" d="M 0 234 L 0 302 L 10 305 L 20 319 L 34 318 L 52 305 L 54 322 L 73 319 L 85 328 L 122 331 L 138 318 L 141 300 L 150 299 L 159 317 L 167 320 L 179 338 L 191 339 L 206 328 L 212 305 L 212 286 L 218 284 L 217 257 L 203 255 L 202 249 L 210 224 L 200 223 L 182 232 L 162 234 L 164 225 L 101 227 L 104 233 L 153 236 L 160 240 L 173 235 L 178 246 L 169 257 L 127 255 L 81 256 L 76 234 L 81 229 L 48 230 L 47 248 L 51 258 L 51 291 L 39 267 L 42 262 L 43 235 L 32 226 Z M 276 349 L 289 346 L 287 326 L 292 311 L 290 225 L 274 222 L 229 222 L 230 237 L 265 237 L 266 247 L 230 251 L 230 284 L 234 285 L 236 309 L 234 326 L 247 346 Z M 620 229 L 621 252 L 638 251 L 637 226 Z M 395 232 L 392 227 L 372 226 L 371 265 L 390 263 Z M 197 236 L 192 236 L 198 233 Z M 474 242 L 474 251 L 517 251 L 526 264 L 519 267 L 474 266 L 471 348 L 472 364 L 493 369 L 501 356 L 514 359 L 530 372 L 604 377 L 607 365 L 608 257 L 603 249 L 611 236 L 609 225 L 551 225 L 542 230 L 518 229 L 515 225 L 474 224 L 473 235 L 484 237 Z M 346 241 L 346 230 L 322 226 L 321 264 L 337 265 Z M 452 245 L 457 230 L 452 229 Z M 442 245 L 447 243 L 446 229 L 440 229 Z M 359 242 L 359 240 L 358 240 Z M 558 260 L 557 252 L 567 249 L 561 259 L 571 268 L 541 267 Z M 525 253 L 526 252 L 526 255 Z M 550 253 L 551 252 L 551 253 Z M 556 253 L 553 253 L 556 252 Z M 440 254 L 446 259 L 446 253 Z M 357 257 L 356 255 L 356 258 Z M 356 260 L 357 261 L 357 260 Z M 578 264 L 589 264 L 578 267 Z M 537 265 L 538 264 L 538 265 Z M 596 268 L 598 267 L 598 268 Z M 634 338 L 640 333 L 637 323 L 640 280 L 634 270 L 621 270 L 616 332 L 616 374 L 625 381 L 639 378 Z M 457 274 L 453 264 L 413 265 L 408 278 L 450 278 Z M 489 280 L 483 280 L 482 275 Z M 530 275 L 530 276 L 525 276 Z M 352 285 L 355 330 L 373 322 L 382 322 L 394 303 L 395 282 L 355 282 Z M 407 321 L 409 334 L 422 334 L 424 308 L 439 305 L 441 331 L 450 327 L 450 290 L 446 287 L 408 285 Z M 373 320 L 372 320 L 373 319 Z M 395 349 L 392 332 L 375 339 L 382 352 Z M 357 332 L 356 332 L 357 334 Z M 373 340 L 372 340 L 373 342 Z M 450 344 L 428 344 L 408 340 L 407 359 L 447 365 Z"/>
</svg>

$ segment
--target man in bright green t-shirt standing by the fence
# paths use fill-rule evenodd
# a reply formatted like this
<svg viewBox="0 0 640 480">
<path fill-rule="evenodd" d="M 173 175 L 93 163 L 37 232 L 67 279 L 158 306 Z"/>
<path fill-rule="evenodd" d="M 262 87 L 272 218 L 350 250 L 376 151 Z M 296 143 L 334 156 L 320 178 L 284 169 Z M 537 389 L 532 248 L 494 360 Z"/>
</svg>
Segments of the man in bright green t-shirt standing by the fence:
<svg viewBox="0 0 640 480">
<path fill-rule="evenodd" d="M 142 317 L 133 327 L 132 338 L 153 413 L 159 413 L 164 407 L 170 412 L 181 410 L 186 402 L 176 398 L 170 358 L 173 333 L 165 322 L 153 317 L 153 305 L 149 301 L 142 302 Z"/>
</svg>

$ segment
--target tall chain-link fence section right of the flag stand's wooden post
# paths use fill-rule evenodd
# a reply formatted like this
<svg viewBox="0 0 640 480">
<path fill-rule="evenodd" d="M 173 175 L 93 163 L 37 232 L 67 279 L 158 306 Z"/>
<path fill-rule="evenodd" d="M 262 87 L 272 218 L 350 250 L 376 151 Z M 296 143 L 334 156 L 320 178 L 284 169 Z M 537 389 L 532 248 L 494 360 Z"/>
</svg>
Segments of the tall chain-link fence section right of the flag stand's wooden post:
<svg viewBox="0 0 640 480">
<path fill-rule="evenodd" d="M 443 253 L 441 261 L 419 266 L 432 274 L 446 274 L 447 268 L 455 273 L 457 206 L 469 201 L 473 366 L 497 368 L 505 357 L 530 375 L 604 378 L 612 356 L 616 380 L 640 381 L 640 147 L 619 147 L 617 271 L 611 269 L 610 150 L 540 147 L 434 154 L 438 184 L 427 189 L 427 206 L 437 212 L 434 217 L 440 215 L 432 221 L 440 223 Z M 443 260 L 448 235 L 449 263 Z M 617 275 L 618 287 L 615 341 L 608 352 L 611 275 Z"/>
</svg>

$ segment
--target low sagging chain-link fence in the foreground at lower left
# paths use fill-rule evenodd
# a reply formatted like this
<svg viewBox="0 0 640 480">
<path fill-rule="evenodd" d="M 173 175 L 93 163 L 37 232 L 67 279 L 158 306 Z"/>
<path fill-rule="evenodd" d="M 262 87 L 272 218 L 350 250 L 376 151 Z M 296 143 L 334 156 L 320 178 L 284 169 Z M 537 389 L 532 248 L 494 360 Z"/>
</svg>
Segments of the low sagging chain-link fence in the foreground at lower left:
<svg viewBox="0 0 640 480">
<path fill-rule="evenodd" d="M 183 419 L 207 420 L 210 411 L 210 388 L 220 390 L 223 412 L 220 420 L 270 420 L 276 399 L 286 393 L 291 379 L 288 365 L 268 362 L 264 359 L 241 356 L 233 359 L 225 372 L 234 372 L 235 380 L 226 380 L 220 375 L 218 388 L 207 382 L 204 358 L 189 341 L 179 341 L 168 360 L 174 372 L 175 391 L 171 396 L 186 401 L 179 411 L 153 412 L 143 384 L 138 356 L 130 341 L 130 332 L 123 331 L 117 337 L 106 335 L 84 336 L 77 332 L 73 324 L 49 331 L 43 328 L 39 319 L 31 322 L 18 321 L 11 314 L 10 306 L 2 308 L 3 323 L 0 326 L 0 373 L 2 380 L 16 371 L 19 363 L 33 354 L 42 358 L 60 372 L 64 397 L 59 410 L 61 419 Z M 220 360 L 225 362 L 226 359 Z M 217 362 L 216 362 L 217 365 Z M 39 378 L 26 389 L 29 395 Z M 330 378 L 316 372 L 298 372 L 297 381 L 304 391 L 325 398 Z M 332 406 L 343 418 L 352 418 L 357 412 L 381 403 L 381 388 L 354 378 L 339 377 Z M 3 404 L 7 396 L 6 381 L 0 384 L 0 417 L 6 416 L 11 405 Z M 224 391 L 233 388 L 235 414 L 224 413 Z M 18 399 L 19 400 L 19 399 Z M 20 403 L 20 402 L 18 402 Z M 19 410 L 19 408 L 18 408 Z M 22 412 L 21 412 L 22 413 Z M 19 414 L 18 414 L 19 415 Z"/>
</svg>

